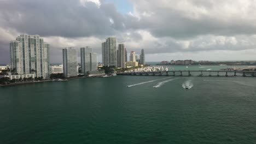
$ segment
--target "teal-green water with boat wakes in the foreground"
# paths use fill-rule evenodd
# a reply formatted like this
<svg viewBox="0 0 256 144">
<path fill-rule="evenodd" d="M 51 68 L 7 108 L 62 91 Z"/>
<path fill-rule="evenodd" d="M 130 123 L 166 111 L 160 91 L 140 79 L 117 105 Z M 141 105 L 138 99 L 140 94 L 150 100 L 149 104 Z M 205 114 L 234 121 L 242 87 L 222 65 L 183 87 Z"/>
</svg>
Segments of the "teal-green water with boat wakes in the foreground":
<svg viewBox="0 0 256 144">
<path fill-rule="evenodd" d="M 0 143 L 256 143 L 255 79 L 115 76 L 0 87 Z"/>
</svg>

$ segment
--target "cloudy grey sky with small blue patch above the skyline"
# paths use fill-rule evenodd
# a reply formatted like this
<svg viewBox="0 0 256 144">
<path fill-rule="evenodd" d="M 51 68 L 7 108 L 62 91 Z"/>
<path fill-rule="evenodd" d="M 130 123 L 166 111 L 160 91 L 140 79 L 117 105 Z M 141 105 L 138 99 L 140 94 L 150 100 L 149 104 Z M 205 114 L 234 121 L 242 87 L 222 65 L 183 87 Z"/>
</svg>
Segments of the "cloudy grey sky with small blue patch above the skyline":
<svg viewBox="0 0 256 144">
<path fill-rule="evenodd" d="M 256 60 L 254 0 L 0 0 L 0 63 L 9 41 L 39 34 L 51 45 L 51 62 L 63 47 L 91 46 L 101 62 L 107 37 L 125 40 L 146 61 Z"/>
</svg>

